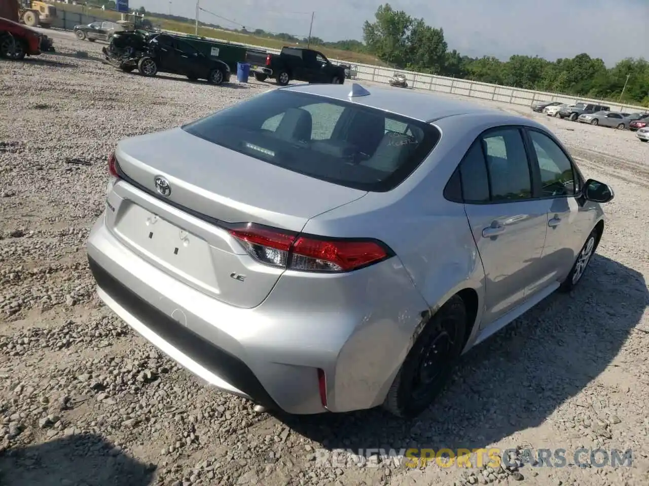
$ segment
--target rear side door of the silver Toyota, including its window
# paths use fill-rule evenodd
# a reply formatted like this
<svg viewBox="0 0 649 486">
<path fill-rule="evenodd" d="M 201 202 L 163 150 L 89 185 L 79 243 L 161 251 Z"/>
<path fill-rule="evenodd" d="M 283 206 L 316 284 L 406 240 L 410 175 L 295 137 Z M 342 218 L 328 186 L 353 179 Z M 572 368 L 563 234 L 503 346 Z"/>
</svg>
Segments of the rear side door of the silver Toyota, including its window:
<svg viewBox="0 0 649 486">
<path fill-rule="evenodd" d="M 487 326 L 545 280 L 541 265 L 546 203 L 532 197 L 533 172 L 522 128 L 482 133 L 461 163 L 465 211 L 487 279 Z"/>
</svg>

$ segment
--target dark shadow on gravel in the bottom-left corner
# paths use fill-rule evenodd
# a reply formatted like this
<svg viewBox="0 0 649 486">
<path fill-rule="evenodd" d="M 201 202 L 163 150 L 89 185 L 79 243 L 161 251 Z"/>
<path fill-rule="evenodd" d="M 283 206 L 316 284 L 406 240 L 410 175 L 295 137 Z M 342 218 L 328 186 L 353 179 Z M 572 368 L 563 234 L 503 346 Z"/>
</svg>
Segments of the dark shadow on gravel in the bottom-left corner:
<svg viewBox="0 0 649 486">
<path fill-rule="evenodd" d="M 148 486 L 153 471 L 95 434 L 12 448 L 0 456 L 0 486 Z"/>
</svg>

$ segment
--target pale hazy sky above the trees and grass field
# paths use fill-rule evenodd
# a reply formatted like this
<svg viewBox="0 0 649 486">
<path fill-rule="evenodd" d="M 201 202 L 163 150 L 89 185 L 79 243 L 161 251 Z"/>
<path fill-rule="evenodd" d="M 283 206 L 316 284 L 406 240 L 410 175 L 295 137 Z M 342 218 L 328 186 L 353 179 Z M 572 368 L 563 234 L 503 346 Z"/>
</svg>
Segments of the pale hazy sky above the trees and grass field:
<svg viewBox="0 0 649 486">
<path fill-rule="evenodd" d="M 288 32 L 325 41 L 363 38 L 380 0 L 199 0 L 202 21 L 227 28 Z M 385 1 L 385 0 L 384 0 Z M 469 56 L 512 54 L 548 60 L 587 52 L 611 66 L 627 57 L 649 59 L 649 0 L 411 0 L 395 10 L 441 27 L 449 49 Z M 130 0 L 130 8 L 195 17 L 194 0 Z"/>
</svg>

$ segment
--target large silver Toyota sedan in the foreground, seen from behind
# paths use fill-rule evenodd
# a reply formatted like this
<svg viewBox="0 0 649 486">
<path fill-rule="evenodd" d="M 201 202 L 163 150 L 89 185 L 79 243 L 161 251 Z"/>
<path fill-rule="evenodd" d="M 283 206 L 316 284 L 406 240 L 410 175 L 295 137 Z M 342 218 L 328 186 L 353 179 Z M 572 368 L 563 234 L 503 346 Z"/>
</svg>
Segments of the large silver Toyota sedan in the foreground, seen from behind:
<svg viewBox="0 0 649 486">
<path fill-rule="evenodd" d="M 530 119 L 349 89 L 120 141 L 90 268 L 136 332 L 258 410 L 411 417 L 461 354 L 582 281 L 613 191 Z"/>
</svg>

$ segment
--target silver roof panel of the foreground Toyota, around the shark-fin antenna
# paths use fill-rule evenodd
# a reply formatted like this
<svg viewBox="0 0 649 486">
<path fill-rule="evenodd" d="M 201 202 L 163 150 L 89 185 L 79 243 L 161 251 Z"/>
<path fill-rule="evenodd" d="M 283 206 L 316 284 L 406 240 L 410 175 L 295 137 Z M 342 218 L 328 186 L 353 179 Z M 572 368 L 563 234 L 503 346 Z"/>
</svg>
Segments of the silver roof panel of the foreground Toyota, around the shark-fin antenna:
<svg viewBox="0 0 649 486">
<path fill-rule="evenodd" d="M 361 86 L 358 83 L 354 85 Z M 445 95 L 436 93 L 421 93 L 404 88 L 388 88 L 377 86 L 362 86 L 369 95 L 350 98 L 352 86 L 340 84 L 298 84 L 280 88 L 284 91 L 297 91 L 310 93 L 326 98 L 349 101 L 389 111 L 424 122 L 432 122 L 454 115 L 467 115 L 471 113 L 501 113 L 498 110 L 484 108 L 479 104 L 455 100 Z M 354 88 L 356 89 L 356 88 Z"/>
</svg>

